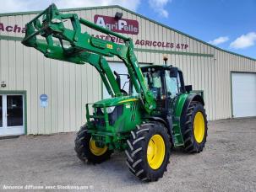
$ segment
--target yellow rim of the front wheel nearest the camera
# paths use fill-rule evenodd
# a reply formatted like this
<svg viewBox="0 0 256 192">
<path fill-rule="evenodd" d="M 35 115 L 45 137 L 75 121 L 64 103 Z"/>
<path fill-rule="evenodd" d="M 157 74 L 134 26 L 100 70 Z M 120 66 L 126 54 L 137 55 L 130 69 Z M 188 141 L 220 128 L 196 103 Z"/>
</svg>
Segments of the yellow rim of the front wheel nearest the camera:
<svg viewBox="0 0 256 192">
<path fill-rule="evenodd" d="M 147 149 L 147 159 L 150 168 L 157 169 L 161 167 L 166 154 L 166 145 L 162 136 L 154 135 L 150 138 L 148 149 Z"/>
</svg>

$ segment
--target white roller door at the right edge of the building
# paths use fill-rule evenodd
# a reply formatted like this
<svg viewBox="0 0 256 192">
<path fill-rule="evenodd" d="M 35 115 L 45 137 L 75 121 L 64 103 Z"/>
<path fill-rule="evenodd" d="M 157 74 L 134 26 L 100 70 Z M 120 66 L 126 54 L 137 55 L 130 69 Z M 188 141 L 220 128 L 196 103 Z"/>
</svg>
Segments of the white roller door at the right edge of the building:
<svg viewBox="0 0 256 192">
<path fill-rule="evenodd" d="M 233 117 L 256 116 L 256 73 L 232 72 Z"/>
</svg>

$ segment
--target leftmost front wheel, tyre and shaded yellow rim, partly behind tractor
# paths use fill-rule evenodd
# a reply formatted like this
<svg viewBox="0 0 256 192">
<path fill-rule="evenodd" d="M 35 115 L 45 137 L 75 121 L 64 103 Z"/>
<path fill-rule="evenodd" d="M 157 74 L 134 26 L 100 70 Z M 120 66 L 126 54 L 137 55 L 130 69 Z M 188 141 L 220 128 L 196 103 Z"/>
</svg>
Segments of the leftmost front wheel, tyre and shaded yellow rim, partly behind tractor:
<svg viewBox="0 0 256 192">
<path fill-rule="evenodd" d="M 112 150 L 109 150 L 106 146 L 98 147 L 96 141 L 87 132 L 87 125 L 81 127 L 74 143 L 74 150 L 83 162 L 87 160 L 91 163 L 102 163 L 111 157 Z"/>
</svg>

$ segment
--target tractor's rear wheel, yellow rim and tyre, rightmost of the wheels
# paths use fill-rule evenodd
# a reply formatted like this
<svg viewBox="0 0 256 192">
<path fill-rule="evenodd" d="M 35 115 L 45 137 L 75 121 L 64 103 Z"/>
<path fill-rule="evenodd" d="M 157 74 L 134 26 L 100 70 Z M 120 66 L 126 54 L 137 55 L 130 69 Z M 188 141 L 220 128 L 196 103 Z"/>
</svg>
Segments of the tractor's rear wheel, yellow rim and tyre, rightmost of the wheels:
<svg viewBox="0 0 256 192">
<path fill-rule="evenodd" d="M 207 119 L 204 106 L 191 102 L 188 106 L 185 125 L 182 126 L 186 152 L 202 152 L 207 137 Z"/>
</svg>

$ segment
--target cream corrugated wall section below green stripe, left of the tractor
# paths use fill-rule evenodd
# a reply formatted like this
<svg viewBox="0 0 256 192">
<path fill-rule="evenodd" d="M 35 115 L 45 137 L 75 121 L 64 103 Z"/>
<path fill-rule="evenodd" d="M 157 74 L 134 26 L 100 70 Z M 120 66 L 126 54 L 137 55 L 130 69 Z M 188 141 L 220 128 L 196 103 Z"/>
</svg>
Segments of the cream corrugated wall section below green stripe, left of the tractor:
<svg viewBox="0 0 256 192">
<path fill-rule="evenodd" d="M 74 131 L 85 120 L 86 103 L 101 99 L 101 80 L 94 67 L 44 58 L 19 41 L 1 40 L 1 79 L 7 88 L 27 91 L 27 131 L 31 134 Z M 46 93 L 49 105 L 41 108 Z"/>
</svg>

